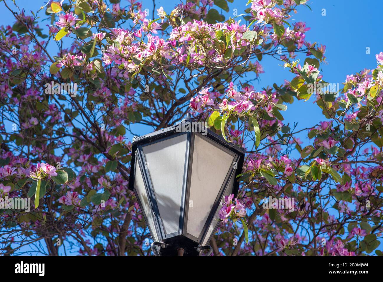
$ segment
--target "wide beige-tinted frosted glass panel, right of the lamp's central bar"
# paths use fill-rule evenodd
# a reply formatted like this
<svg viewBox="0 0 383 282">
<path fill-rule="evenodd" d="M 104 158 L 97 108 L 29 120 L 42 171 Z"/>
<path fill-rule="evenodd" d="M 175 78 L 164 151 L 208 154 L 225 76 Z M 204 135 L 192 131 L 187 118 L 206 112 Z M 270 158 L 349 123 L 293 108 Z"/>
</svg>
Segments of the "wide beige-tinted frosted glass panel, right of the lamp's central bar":
<svg viewBox="0 0 383 282">
<path fill-rule="evenodd" d="M 187 233 L 198 238 L 223 181 L 233 166 L 233 152 L 226 152 L 200 135 L 195 135 L 188 207 Z"/>
</svg>

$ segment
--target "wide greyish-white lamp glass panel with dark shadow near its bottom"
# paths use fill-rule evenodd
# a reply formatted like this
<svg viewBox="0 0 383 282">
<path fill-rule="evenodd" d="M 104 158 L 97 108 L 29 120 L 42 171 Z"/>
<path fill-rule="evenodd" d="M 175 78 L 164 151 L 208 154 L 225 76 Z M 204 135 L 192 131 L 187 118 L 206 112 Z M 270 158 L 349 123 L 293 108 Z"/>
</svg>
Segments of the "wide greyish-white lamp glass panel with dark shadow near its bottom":
<svg viewBox="0 0 383 282">
<path fill-rule="evenodd" d="M 142 148 L 165 234 L 178 232 L 185 175 L 187 134 Z"/>
</svg>

